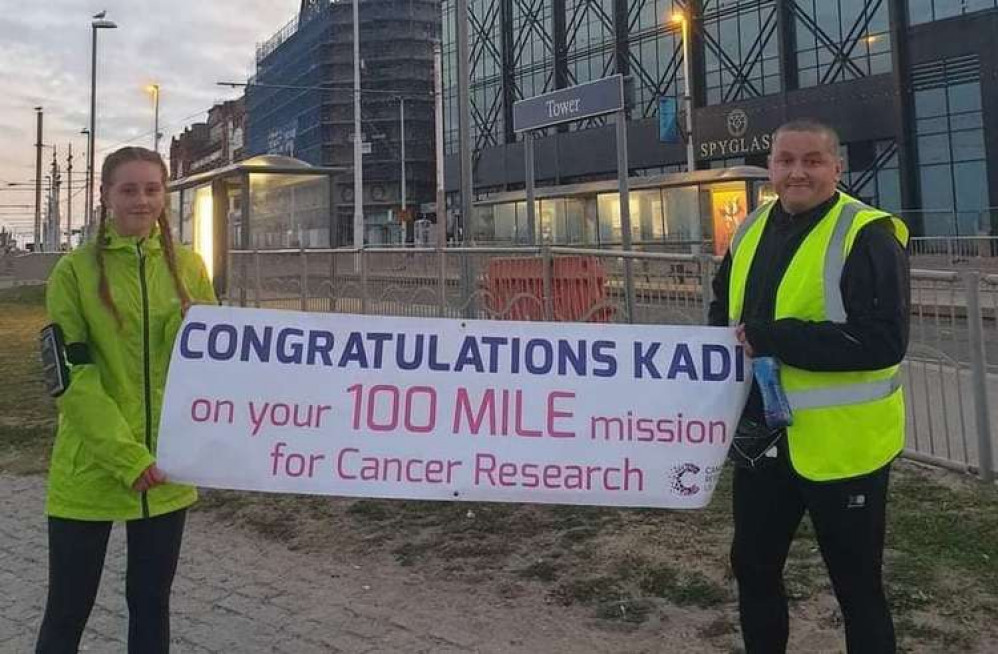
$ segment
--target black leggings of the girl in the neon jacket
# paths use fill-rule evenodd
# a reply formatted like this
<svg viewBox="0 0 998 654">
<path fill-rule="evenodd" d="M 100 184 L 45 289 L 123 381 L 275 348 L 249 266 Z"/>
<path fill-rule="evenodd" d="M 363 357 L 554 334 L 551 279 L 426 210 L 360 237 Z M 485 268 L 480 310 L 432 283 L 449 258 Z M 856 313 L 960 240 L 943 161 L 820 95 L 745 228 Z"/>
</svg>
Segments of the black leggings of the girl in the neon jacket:
<svg viewBox="0 0 998 654">
<path fill-rule="evenodd" d="M 186 510 L 126 524 L 129 654 L 170 651 L 170 588 Z M 49 518 L 49 590 L 36 654 L 76 654 L 97 597 L 110 522 Z"/>
</svg>

